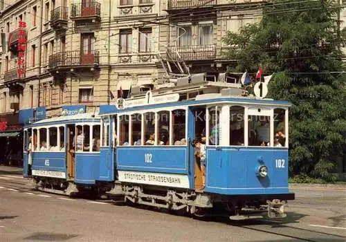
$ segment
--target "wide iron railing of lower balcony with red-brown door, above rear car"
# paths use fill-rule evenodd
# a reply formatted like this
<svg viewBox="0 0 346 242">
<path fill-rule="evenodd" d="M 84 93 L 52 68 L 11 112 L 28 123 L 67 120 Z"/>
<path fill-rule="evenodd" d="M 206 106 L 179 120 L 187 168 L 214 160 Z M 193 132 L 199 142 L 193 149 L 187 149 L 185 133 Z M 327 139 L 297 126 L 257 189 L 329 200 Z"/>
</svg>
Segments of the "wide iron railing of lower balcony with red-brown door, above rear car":
<svg viewBox="0 0 346 242">
<path fill-rule="evenodd" d="M 95 66 L 100 63 L 98 50 L 87 51 L 65 51 L 51 55 L 48 58 L 49 68 L 71 68 L 76 66 Z"/>
</svg>

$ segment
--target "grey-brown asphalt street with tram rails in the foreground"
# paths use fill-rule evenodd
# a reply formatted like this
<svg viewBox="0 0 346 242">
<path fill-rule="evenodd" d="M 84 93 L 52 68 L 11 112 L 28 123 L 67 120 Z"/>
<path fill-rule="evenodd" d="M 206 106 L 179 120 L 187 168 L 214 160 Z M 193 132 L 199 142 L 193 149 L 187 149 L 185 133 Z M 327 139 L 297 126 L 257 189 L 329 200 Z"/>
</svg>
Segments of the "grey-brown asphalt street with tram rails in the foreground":
<svg viewBox="0 0 346 242">
<path fill-rule="evenodd" d="M 0 167 L 0 241 L 346 241 L 343 189 L 295 189 L 283 221 L 201 221 L 30 188 Z"/>
</svg>

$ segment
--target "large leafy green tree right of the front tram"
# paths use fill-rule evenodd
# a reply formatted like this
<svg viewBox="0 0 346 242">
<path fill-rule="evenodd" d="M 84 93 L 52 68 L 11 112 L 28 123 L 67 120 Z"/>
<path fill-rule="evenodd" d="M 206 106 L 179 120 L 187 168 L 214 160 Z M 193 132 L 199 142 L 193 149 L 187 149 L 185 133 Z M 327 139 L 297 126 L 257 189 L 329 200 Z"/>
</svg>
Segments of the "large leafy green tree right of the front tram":
<svg viewBox="0 0 346 242">
<path fill-rule="evenodd" d="M 346 73 L 337 1 L 273 0 L 262 20 L 228 32 L 230 71 L 256 73 L 262 65 L 269 97 L 289 100 L 290 171 L 334 180 L 336 156 L 345 156 Z"/>
</svg>

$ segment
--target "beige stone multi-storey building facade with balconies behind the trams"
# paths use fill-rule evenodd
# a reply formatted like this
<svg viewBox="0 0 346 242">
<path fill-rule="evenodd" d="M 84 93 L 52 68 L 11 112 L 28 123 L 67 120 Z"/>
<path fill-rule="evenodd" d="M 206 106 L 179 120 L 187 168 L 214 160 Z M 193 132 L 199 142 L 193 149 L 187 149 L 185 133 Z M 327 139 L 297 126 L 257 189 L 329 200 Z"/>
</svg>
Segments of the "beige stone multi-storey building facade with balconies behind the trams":
<svg viewBox="0 0 346 242">
<path fill-rule="evenodd" d="M 126 97 L 172 76 L 213 78 L 232 62 L 223 58 L 222 37 L 259 21 L 262 3 L 0 0 L 0 127 L 20 140 L 23 124 L 60 115 L 62 106 L 98 113 L 118 93 Z"/>
</svg>

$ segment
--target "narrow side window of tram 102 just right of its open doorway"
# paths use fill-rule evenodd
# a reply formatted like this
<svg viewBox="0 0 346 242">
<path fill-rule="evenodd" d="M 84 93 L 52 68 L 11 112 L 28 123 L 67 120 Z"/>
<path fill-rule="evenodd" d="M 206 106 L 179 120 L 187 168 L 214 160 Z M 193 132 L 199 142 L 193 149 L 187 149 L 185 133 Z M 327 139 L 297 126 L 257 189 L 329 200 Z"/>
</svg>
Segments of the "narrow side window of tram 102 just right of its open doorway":
<svg viewBox="0 0 346 242">
<path fill-rule="evenodd" d="M 209 145 L 220 145 L 221 106 L 209 108 Z"/>
</svg>

